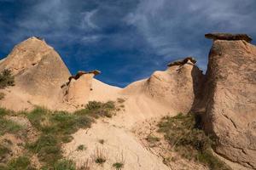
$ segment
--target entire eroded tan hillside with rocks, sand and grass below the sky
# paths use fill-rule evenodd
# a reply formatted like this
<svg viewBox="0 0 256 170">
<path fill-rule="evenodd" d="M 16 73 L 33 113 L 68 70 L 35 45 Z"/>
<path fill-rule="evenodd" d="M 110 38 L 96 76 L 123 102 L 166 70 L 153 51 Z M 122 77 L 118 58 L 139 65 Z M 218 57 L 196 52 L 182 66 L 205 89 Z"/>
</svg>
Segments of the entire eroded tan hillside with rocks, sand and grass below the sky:
<svg viewBox="0 0 256 170">
<path fill-rule="evenodd" d="M 206 37 L 206 75 L 188 57 L 126 88 L 96 80 L 100 71 L 71 76 L 46 42 L 21 42 L 0 63 L 15 82 L 0 89 L 9 110 L 1 114 L 3 167 L 255 169 L 256 48 L 247 35 Z"/>
</svg>

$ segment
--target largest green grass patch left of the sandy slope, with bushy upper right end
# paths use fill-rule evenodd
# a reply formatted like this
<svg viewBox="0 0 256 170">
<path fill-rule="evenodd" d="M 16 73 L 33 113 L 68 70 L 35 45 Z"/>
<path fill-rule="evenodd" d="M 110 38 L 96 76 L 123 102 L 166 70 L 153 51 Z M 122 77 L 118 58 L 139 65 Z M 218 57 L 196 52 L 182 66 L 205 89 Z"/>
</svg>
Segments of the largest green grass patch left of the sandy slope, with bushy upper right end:
<svg viewBox="0 0 256 170">
<path fill-rule="evenodd" d="M 108 116 L 114 109 L 113 102 L 96 101 L 89 102 L 83 110 L 73 114 L 38 107 L 28 113 L 27 118 L 41 135 L 36 142 L 26 144 L 26 148 L 38 154 L 38 159 L 44 162 L 45 168 L 52 169 L 62 158 L 61 144 L 70 142 L 73 139 L 71 135 L 79 128 L 90 127 L 96 118 Z M 79 145 L 78 150 L 84 149 L 84 145 Z"/>
</svg>

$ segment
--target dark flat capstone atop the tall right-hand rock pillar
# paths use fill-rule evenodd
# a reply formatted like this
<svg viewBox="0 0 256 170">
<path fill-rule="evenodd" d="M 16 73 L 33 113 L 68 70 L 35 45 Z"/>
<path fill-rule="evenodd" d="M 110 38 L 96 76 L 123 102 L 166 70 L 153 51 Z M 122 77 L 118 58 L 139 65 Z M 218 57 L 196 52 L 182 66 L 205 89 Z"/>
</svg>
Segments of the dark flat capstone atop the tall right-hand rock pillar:
<svg viewBox="0 0 256 170">
<path fill-rule="evenodd" d="M 247 36 L 247 34 L 230 34 L 230 33 L 208 33 L 205 35 L 206 38 L 213 40 L 244 40 L 246 42 L 252 42 L 252 38 Z"/>
</svg>

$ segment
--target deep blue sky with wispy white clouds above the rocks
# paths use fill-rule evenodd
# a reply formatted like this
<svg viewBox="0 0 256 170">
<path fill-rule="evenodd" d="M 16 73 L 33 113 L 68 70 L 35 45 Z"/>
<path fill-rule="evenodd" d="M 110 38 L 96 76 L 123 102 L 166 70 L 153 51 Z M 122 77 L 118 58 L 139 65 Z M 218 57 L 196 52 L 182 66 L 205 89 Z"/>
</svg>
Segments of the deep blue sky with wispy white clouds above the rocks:
<svg viewBox="0 0 256 170">
<path fill-rule="evenodd" d="M 205 71 L 212 31 L 256 38 L 256 0 L 0 0 L 1 59 L 44 37 L 72 73 L 97 69 L 119 87 L 185 56 Z"/>
</svg>

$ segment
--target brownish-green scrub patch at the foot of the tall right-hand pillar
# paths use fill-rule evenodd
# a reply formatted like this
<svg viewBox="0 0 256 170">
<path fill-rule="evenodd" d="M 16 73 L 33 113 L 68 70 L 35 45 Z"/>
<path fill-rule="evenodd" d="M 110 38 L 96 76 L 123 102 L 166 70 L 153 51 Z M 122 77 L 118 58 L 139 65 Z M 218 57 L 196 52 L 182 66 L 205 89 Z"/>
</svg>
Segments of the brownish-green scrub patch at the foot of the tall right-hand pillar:
<svg viewBox="0 0 256 170">
<path fill-rule="evenodd" d="M 212 155 L 214 140 L 198 127 L 197 117 L 193 114 L 164 117 L 158 124 L 159 132 L 171 144 L 172 150 L 186 159 L 199 161 L 212 170 L 228 170 L 223 161 Z"/>
</svg>

